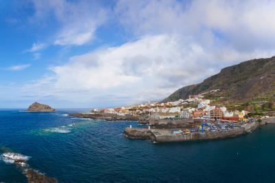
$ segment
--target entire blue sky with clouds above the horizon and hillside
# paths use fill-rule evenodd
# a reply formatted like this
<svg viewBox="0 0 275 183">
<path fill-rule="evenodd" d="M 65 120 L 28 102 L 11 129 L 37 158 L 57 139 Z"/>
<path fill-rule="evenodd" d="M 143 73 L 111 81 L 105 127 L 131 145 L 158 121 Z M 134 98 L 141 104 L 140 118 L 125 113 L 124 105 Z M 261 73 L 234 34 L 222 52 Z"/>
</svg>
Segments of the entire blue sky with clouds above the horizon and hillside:
<svg viewBox="0 0 275 183">
<path fill-rule="evenodd" d="M 275 55 L 275 1 L 0 0 L 0 108 L 159 101 Z"/>
</svg>

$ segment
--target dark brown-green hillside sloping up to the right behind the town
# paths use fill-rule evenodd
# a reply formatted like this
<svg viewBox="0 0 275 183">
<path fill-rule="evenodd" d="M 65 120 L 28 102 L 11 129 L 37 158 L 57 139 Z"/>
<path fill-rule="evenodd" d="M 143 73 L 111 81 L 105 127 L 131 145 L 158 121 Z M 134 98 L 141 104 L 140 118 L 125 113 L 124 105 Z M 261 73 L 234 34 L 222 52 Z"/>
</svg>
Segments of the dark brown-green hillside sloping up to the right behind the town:
<svg viewBox="0 0 275 183">
<path fill-rule="evenodd" d="M 219 89 L 211 93 L 211 90 Z M 252 59 L 223 68 L 196 85 L 178 89 L 163 102 L 186 99 L 189 95 L 207 93 L 207 98 L 220 100 L 252 100 L 275 97 L 275 57 Z"/>
</svg>

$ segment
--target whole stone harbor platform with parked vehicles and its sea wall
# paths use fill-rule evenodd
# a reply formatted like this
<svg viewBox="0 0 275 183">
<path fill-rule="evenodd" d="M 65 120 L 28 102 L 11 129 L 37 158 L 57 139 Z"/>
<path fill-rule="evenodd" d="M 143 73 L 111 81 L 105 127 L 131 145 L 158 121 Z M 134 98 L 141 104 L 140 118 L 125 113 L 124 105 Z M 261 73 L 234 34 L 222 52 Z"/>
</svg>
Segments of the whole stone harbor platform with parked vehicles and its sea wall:
<svg viewBox="0 0 275 183">
<path fill-rule="evenodd" d="M 125 128 L 124 135 L 129 139 L 150 139 L 152 142 L 178 142 L 178 141 L 201 141 L 212 139 L 224 139 L 237 137 L 252 132 L 265 125 L 265 122 L 250 120 L 248 122 L 230 123 L 215 122 L 194 124 L 196 128 Z M 193 126 L 194 126 L 193 125 Z M 192 125 L 189 125 L 192 126 Z"/>
</svg>

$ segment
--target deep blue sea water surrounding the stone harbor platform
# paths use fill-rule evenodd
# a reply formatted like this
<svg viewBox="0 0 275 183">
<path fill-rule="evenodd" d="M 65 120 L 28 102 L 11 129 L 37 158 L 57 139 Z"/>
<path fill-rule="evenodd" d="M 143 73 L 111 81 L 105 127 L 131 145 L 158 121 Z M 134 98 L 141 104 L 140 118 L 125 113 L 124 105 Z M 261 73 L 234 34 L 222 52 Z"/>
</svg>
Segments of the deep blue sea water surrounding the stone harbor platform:
<svg viewBox="0 0 275 183">
<path fill-rule="evenodd" d="M 0 148 L 60 182 L 275 182 L 275 126 L 215 141 L 151 143 L 122 132 L 137 122 L 0 111 Z M 64 132 L 64 133 L 60 133 Z M 65 133 L 68 132 L 68 133 Z M 0 182 L 27 182 L 0 160 Z"/>
</svg>

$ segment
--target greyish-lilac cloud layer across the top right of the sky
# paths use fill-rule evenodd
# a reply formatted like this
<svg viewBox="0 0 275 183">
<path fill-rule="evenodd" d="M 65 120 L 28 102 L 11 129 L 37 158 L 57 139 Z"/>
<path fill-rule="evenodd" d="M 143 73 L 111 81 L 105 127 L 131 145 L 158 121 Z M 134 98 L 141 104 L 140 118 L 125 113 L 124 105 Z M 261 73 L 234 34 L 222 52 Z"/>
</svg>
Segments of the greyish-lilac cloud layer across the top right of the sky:
<svg viewBox="0 0 275 183">
<path fill-rule="evenodd" d="M 137 36 L 180 33 L 202 46 L 238 51 L 275 48 L 274 1 L 120 0 L 120 23 Z"/>
</svg>

